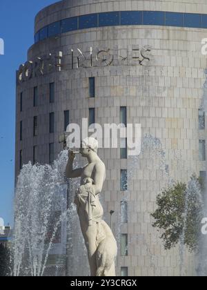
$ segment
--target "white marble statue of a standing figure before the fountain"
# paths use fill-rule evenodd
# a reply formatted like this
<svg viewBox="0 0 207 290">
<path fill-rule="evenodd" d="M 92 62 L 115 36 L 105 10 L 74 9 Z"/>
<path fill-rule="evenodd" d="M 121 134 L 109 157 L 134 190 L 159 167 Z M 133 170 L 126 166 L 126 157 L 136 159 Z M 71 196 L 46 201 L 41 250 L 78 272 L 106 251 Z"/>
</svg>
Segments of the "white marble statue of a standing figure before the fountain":
<svg viewBox="0 0 207 290">
<path fill-rule="evenodd" d="M 89 137 L 83 140 L 80 153 L 88 159 L 83 168 L 73 169 L 75 153 L 68 151 L 66 177 L 81 177 L 75 204 L 81 231 L 88 251 L 91 276 L 115 276 L 117 242 L 108 224 L 103 221 L 103 208 L 99 194 L 106 180 L 105 164 L 97 155 L 98 142 Z"/>
</svg>

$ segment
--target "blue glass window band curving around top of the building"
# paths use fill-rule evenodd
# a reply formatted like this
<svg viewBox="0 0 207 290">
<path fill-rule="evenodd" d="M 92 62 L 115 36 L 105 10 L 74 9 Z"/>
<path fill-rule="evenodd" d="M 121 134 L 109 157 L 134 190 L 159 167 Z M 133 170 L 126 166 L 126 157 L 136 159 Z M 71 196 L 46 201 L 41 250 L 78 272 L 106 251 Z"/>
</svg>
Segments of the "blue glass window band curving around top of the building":
<svg viewBox="0 0 207 290">
<path fill-rule="evenodd" d="M 207 28 L 207 14 L 133 10 L 81 15 L 63 19 L 41 28 L 34 35 L 34 43 L 72 30 L 122 25 Z"/>
</svg>

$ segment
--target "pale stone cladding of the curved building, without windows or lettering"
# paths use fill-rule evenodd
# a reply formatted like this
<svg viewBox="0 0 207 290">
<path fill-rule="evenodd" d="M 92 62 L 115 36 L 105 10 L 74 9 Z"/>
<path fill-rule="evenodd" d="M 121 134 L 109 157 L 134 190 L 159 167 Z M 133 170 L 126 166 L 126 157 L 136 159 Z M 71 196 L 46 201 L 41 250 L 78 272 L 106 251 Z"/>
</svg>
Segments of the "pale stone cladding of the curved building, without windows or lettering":
<svg viewBox="0 0 207 290">
<path fill-rule="evenodd" d="M 37 14 L 35 32 L 44 26 L 66 19 L 106 11 L 157 10 L 206 13 L 205 0 L 184 1 L 60 1 Z M 198 109 L 204 85 L 206 57 L 201 55 L 201 39 L 207 30 L 164 26 L 108 26 L 63 33 L 35 43 L 28 50 L 28 60 L 63 52 L 61 71 L 50 72 L 17 85 L 16 177 L 19 174 L 19 151 L 24 164 L 33 159 L 49 162 L 49 144 L 55 144 L 55 157 L 62 150 L 63 111 L 70 110 L 70 122 L 81 124 L 88 108 L 95 108 L 99 124 L 119 124 L 120 107 L 127 107 L 127 122 L 141 123 L 142 134 L 159 138 L 166 153 L 171 179 L 187 182 L 190 175 L 205 171 L 199 161 Z M 145 66 L 113 65 L 70 68 L 70 49 L 83 52 L 92 48 L 150 46 L 150 61 Z M 95 98 L 88 97 L 88 77 L 95 77 Z M 50 104 L 50 83 L 55 82 L 55 103 Z M 33 90 L 38 86 L 39 104 L 33 106 Z M 20 95 L 23 110 L 20 112 Z M 55 133 L 49 133 L 49 114 L 55 113 Z M 38 133 L 33 137 L 33 117 L 38 116 Z M 22 121 L 22 141 L 19 141 Z M 157 151 L 156 151 L 157 152 Z M 160 156 L 141 153 L 138 163 L 120 159 L 120 149 L 100 149 L 106 164 L 107 180 L 102 193 L 106 220 L 118 234 L 128 234 L 128 255 L 117 258 L 117 274 L 128 267 L 128 276 L 178 276 L 179 251 L 165 251 L 160 233 L 152 228 L 150 213 L 155 210 L 156 195 L 168 182 L 160 166 Z M 120 171 L 128 169 L 128 191 L 120 191 Z M 133 172 L 133 174 L 131 173 Z M 129 182 L 130 181 L 130 182 Z M 120 202 L 128 201 L 128 223 L 120 224 Z M 119 225 L 119 226 L 117 226 Z M 117 230 L 119 228 L 119 233 Z M 119 247 L 120 240 L 118 239 Z M 195 258 L 186 254 L 186 276 L 195 275 Z"/>
</svg>

